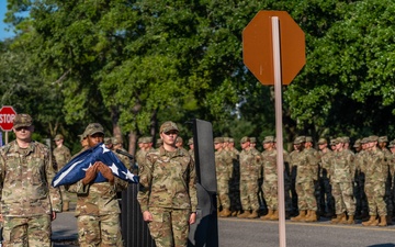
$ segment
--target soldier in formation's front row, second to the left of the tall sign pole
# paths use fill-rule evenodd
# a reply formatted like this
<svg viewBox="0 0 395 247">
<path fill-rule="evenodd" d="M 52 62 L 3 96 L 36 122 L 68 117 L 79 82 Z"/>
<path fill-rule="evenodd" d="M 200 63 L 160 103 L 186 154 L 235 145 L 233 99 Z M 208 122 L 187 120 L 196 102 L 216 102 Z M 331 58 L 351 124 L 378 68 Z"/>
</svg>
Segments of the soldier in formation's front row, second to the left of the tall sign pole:
<svg viewBox="0 0 395 247">
<path fill-rule="evenodd" d="M 258 217 L 258 178 L 261 168 L 260 154 L 251 150 L 249 137 L 240 139 L 242 151 L 240 153 L 240 201 L 244 210 L 237 217 Z"/>
</svg>

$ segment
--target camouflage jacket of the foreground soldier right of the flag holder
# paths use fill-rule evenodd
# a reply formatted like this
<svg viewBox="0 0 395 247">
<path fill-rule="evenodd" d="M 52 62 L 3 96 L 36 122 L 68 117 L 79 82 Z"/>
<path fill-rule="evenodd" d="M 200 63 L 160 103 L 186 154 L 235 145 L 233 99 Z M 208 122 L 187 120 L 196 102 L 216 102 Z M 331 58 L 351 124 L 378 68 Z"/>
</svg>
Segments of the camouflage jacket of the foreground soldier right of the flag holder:
<svg viewBox="0 0 395 247">
<path fill-rule="evenodd" d="M 196 211 L 196 170 L 185 149 L 167 151 L 161 146 L 148 151 L 139 182 L 143 188 L 137 200 L 142 212 L 149 206 Z"/>
</svg>

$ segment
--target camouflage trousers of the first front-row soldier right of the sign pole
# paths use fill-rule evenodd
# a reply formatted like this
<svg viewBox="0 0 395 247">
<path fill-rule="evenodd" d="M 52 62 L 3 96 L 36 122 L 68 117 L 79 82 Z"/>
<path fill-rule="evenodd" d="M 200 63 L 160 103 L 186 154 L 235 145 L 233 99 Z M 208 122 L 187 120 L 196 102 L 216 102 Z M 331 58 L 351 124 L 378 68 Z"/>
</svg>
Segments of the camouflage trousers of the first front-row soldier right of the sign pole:
<svg viewBox="0 0 395 247">
<path fill-rule="evenodd" d="M 317 201 L 314 195 L 314 182 L 301 182 L 296 183 L 297 193 L 297 207 L 298 210 L 313 210 L 317 211 Z"/>
</svg>

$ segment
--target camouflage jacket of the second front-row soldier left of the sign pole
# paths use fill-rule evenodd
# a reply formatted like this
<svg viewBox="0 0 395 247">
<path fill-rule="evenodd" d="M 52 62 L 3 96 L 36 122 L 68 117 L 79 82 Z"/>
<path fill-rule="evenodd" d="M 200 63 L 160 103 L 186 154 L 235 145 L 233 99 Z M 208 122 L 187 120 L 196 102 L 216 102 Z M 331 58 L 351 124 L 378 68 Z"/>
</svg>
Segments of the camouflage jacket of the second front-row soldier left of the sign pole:
<svg viewBox="0 0 395 247">
<path fill-rule="evenodd" d="M 251 149 L 244 149 L 240 153 L 240 181 L 258 181 L 260 169 L 260 154 L 253 154 Z"/>
</svg>

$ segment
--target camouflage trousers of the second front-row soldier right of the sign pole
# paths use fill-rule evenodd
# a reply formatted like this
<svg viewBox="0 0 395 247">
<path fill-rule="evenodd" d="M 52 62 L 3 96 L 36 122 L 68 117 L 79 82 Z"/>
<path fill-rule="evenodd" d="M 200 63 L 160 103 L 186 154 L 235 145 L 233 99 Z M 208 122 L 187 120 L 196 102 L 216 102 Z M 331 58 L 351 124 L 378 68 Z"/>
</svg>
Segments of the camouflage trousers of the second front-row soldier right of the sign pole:
<svg viewBox="0 0 395 247">
<path fill-rule="evenodd" d="M 356 201 L 352 197 L 351 182 L 334 182 L 332 195 L 335 198 L 336 214 L 342 214 L 347 211 L 348 215 L 356 214 Z"/>
</svg>

